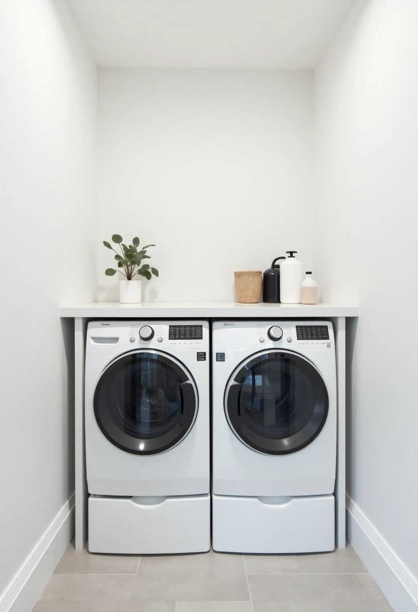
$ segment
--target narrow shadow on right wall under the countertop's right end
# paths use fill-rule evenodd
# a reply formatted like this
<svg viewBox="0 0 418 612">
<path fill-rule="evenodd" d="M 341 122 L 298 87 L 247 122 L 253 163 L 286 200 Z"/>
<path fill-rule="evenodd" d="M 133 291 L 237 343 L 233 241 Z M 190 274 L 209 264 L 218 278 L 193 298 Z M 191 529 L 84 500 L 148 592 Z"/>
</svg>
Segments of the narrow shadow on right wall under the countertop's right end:
<svg viewBox="0 0 418 612">
<path fill-rule="evenodd" d="M 356 341 L 358 318 L 347 318 L 347 329 L 346 329 L 346 362 L 345 362 L 345 380 L 346 380 L 346 433 L 345 433 L 345 445 L 346 445 L 346 485 L 345 489 L 351 497 L 351 465 L 352 465 L 352 437 L 351 432 L 353 431 L 353 357 L 354 357 L 354 345 Z"/>
</svg>

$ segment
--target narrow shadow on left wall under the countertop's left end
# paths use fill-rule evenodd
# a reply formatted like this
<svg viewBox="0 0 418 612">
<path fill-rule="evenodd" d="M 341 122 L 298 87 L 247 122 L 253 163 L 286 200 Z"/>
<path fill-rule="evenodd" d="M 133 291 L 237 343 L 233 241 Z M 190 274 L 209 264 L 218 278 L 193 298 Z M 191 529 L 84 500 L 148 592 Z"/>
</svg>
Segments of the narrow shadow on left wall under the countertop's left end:
<svg viewBox="0 0 418 612">
<path fill-rule="evenodd" d="M 65 367 L 63 371 L 63 378 L 67 382 L 67 397 L 64 397 L 67 407 L 67 435 L 68 435 L 68 474 L 64 474 L 63 482 L 68 482 L 68 491 L 64 491 L 67 495 L 67 499 L 73 494 L 75 490 L 75 453 L 74 453 L 74 403 L 75 403 L 75 372 L 74 372 L 74 319 L 62 318 L 61 319 L 62 329 L 62 340 L 64 344 L 65 353 Z"/>
</svg>

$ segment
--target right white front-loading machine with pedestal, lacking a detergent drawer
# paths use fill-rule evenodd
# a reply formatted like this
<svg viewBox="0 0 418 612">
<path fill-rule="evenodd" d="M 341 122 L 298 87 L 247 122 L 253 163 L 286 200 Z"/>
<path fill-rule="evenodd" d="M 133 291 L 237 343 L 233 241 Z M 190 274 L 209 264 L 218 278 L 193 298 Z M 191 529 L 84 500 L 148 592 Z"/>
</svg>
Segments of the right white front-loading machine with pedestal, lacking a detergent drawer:
<svg viewBox="0 0 418 612">
<path fill-rule="evenodd" d="M 337 393 L 329 321 L 216 321 L 212 545 L 334 549 Z"/>
</svg>

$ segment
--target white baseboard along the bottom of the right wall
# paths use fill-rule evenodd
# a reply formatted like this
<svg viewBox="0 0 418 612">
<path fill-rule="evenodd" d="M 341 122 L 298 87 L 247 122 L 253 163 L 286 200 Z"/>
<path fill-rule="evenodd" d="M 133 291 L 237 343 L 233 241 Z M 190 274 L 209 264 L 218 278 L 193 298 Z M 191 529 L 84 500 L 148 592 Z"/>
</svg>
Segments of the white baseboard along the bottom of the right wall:
<svg viewBox="0 0 418 612">
<path fill-rule="evenodd" d="M 417 612 L 418 581 L 347 495 L 347 538 L 395 612 Z"/>
</svg>

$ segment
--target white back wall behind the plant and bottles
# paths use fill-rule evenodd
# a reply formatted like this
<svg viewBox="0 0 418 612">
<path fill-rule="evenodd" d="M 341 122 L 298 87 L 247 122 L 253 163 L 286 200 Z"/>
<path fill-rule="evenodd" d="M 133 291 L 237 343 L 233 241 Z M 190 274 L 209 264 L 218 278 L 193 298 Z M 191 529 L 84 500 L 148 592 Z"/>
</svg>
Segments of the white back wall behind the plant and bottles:
<svg viewBox="0 0 418 612">
<path fill-rule="evenodd" d="M 99 70 L 99 239 L 155 243 L 145 300 L 235 300 L 233 271 L 312 261 L 312 72 Z M 117 300 L 99 250 L 99 299 Z M 309 269 L 309 267 L 308 267 Z M 118 277 L 122 278 L 119 274 Z"/>
</svg>

